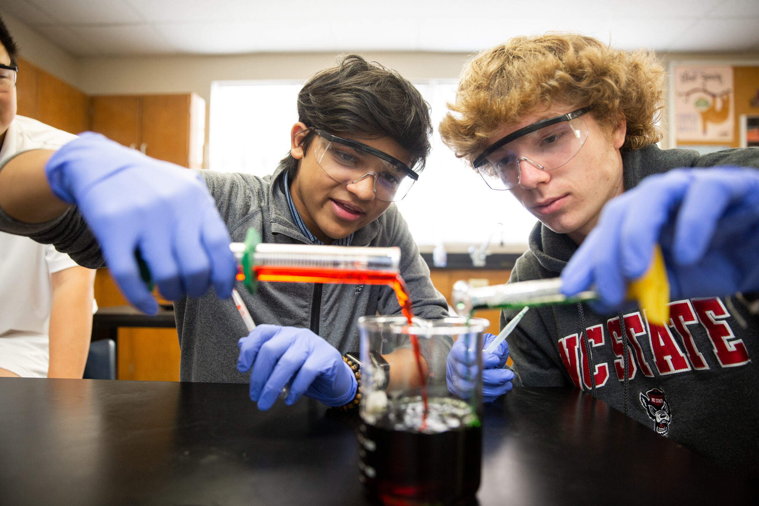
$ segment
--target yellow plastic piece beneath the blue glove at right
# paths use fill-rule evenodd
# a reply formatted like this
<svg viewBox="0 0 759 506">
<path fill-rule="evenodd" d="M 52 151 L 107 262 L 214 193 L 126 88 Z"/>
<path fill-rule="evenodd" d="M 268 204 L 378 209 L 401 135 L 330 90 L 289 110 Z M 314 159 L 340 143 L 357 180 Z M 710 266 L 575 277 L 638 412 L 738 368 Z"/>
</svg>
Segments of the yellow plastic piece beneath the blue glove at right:
<svg viewBox="0 0 759 506">
<path fill-rule="evenodd" d="M 669 278 L 658 244 L 653 247 L 653 259 L 648 270 L 628 286 L 627 297 L 638 300 L 638 305 L 646 312 L 648 322 L 661 326 L 669 323 Z"/>
</svg>

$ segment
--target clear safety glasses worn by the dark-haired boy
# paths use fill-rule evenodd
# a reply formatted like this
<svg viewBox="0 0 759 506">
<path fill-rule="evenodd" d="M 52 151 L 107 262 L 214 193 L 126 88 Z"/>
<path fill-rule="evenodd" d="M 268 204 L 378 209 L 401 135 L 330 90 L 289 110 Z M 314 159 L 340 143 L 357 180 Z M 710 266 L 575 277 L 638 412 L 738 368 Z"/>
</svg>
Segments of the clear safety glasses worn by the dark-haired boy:
<svg viewBox="0 0 759 506">
<path fill-rule="evenodd" d="M 317 162 L 329 177 L 342 184 L 355 184 L 373 177 L 374 195 L 385 202 L 402 200 L 417 181 L 419 174 L 405 163 L 355 140 L 343 139 L 313 130 Z"/>
</svg>

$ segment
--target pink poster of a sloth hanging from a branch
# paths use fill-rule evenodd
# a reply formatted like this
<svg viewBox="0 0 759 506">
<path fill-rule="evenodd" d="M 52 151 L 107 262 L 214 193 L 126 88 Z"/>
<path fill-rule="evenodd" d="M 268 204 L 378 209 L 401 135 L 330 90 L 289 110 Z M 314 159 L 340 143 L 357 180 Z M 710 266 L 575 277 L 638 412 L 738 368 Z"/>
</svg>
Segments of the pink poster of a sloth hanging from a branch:
<svg viewBox="0 0 759 506">
<path fill-rule="evenodd" d="M 732 67 L 675 67 L 677 140 L 731 143 L 734 135 Z"/>
</svg>

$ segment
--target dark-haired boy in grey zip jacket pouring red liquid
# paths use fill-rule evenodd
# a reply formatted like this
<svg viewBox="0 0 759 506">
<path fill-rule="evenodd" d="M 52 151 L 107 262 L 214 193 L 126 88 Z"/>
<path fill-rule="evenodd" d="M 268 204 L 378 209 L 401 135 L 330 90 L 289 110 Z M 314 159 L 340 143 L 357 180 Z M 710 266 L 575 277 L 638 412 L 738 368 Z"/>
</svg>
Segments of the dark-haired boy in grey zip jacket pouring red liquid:
<svg viewBox="0 0 759 506">
<path fill-rule="evenodd" d="M 341 356 L 358 348 L 356 320 L 400 313 L 394 292 L 374 285 L 263 283 L 251 297 L 241 289 L 258 326 L 240 340 L 238 349 L 238 338 L 246 334 L 244 323 L 232 300 L 216 296 L 228 296 L 228 281 L 234 279 L 220 250 L 228 238 L 216 219 L 221 216 L 236 241 L 244 240 L 252 227 L 266 243 L 399 247 L 400 271 L 414 312 L 425 319 L 447 316 L 446 300 L 433 287 L 393 204 L 419 178 L 431 131 L 428 105 L 408 80 L 350 55 L 314 76 L 299 93 L 290 154 L 271 175 L 176 171 L 86 134 L 52 156 L 20 156 L 0 171 L 5 211 L 0 211 L 0 228 L 53 243 L 84 266 L 102 266 L 106 256 L 111 269 L 114 263 L 119 266 L 116 277 L 131 294 L 144 289 L 128 259 L 133 244 L 138 245 L 162 294 L 175 300 L 181 380 L 247 382 L 245 372 L 252 368 L 250 397 L 261 409 L 273 404 L 290 379 L 288 404 L 305 393 L 341 406 L 357 394 L 354 373 Z M 24 172 L 22 165 L 36 167 L 40 160 L 45 171 Z M 40 181 L 40 174 L 46 181 Z M 25 178 L 26 184 L 16 188 L 37 189 L 33 209 L 15 193 L 4 195 L 4 176 L 16 183 Z M 205 193 L 193 182 L 201 176 L 216 209 L 207 208 Z M 81 214 L 45 193 L 51 190 L 59 200 L 76 203 Z M 204 223 L 209 226 L 200 227 Z M 151 239 L 132 242 L 131 237 L 141 234 L 152 234 Z M 130 238 L 122 240 L 125 235 Z M 183 256 L 187 250 L 192 254 Z M 203 294 L 209 279 L 216 294 Z M 408 348 L 398 347 L 388 361 L 390 382 L 394 371 L 416 373 Z"/>
</svg>

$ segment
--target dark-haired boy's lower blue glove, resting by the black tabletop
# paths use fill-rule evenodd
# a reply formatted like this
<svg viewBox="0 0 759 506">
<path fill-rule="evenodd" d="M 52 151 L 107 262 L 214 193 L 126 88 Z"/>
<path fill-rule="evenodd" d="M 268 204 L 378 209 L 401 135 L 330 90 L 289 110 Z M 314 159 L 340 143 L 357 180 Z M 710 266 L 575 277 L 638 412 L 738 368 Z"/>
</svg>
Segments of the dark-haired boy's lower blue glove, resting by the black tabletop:
<svg viewBox="0 0 759 506">
<path fill-rule="evenodd" d="M 358 382 L 340 352 L 307 328 L 258 325 L 238 341 L 238 371 L 250 367 L 250 400 L 268 410 L 292 380 L 285 404 L 305 394 L 327 406 L 342 406 L 356 394 Z"/>
</svg>

